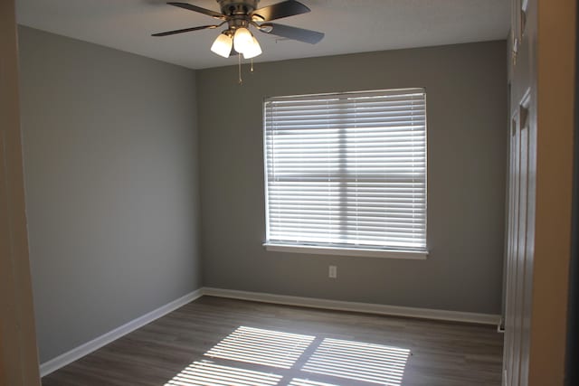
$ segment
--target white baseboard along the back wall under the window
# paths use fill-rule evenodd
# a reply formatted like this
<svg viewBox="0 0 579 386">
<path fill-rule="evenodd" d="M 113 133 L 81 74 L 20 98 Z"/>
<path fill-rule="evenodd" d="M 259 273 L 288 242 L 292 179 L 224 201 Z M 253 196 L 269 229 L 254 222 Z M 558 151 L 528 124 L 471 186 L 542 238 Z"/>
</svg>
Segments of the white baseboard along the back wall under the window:
<svg viewBox="0 0 579 386">
<path fill-rule="evenodd" d="M 368 314 L 419 317 L 422 319 L 445 320 L 451 322 L 476 323 L 481 325 L 498 325 L 500 315 L 475 314 L 470 312 L 447 311 L 430 308 L 406 306 L 385 306 L 371 303 L 345 302 L 340 300 L 318 299 L 314 297 L 289 297 L 285 295 L 266 294 L 261 292 L 237 291 L 233 289 L 204 287 L 203 294 L 212 297 L 230 297 L 233 299 L 253 300 L 264 303 L 275 303 L 288 306 L 305 306 L 326 308 L 339 311 L 362 312 Z"/>
</svg>

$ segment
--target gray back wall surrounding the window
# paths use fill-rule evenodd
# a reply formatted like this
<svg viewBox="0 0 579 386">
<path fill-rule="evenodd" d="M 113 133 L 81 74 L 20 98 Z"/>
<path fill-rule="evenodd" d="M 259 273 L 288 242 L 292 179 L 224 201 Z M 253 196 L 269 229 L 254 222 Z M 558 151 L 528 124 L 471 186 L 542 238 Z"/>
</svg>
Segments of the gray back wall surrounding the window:
<svg viewBox="0 0 579 386">
<path fill-rule="evenodd" d="M 500 313 L 506 42 L 259 63 L 197 72 L 204 284 L 301 297 Z M 427 260 L 268 252 L 262 99 L 425 87 Z M 337 279 L 327 266 L 337 265 Z"/>
</svg>

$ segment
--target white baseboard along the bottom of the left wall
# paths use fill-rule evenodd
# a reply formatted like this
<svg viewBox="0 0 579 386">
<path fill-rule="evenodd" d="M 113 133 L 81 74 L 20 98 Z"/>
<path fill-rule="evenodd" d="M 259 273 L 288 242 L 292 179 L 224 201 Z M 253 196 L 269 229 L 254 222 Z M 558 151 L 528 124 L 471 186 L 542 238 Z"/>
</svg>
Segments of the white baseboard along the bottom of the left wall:
<svg viewBox="0 0 579 386">
<path fill-rule="evenodd" d="M 81 359 L 83 356 L 92 353 L 95 350 L 100 349 L 100 347 L 109 344 L 121 336 L 131 333 L 143 325 L 147 325 L 161 316 L 164 316 L 172 311 L 175 311 L 181 306 L 185 306 L 187 303 L 194 301 L 198 297 L 203 296 L 203 289 L 197 289 L 193 292 L 188 293 L 184 297 L 179 297 L 178 299 L 167 303 L 165 306 L 160 306 L 157 309 L 139 316 L 137 319 L 131 320 L 125 325 L 121 325 L 106 334 L 102 334 L 99 337 L 87 342 L 86 344 L 81 344 L 78 347 L 73 348 L 71 351 L 63 353 L 62 355 L 52 358 L 48 362 L 43 362 L 40 365 L 40 375 L 41 377 L 55 372 L 56 370 L 66 366 L 67 364 Z"/>
</svg>

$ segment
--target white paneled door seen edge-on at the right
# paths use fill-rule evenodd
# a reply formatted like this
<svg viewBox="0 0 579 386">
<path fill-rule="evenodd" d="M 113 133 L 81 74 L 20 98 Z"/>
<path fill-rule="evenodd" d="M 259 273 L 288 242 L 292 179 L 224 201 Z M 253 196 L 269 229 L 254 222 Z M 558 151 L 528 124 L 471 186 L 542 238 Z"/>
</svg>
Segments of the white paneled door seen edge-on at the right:
<svg viewBox="0 0 579 386">
<path fill-rule="evenodd" d="M 536 191 L 536 0 L 512 0 L 503 385 L 528 383 Z"/>
</svg>

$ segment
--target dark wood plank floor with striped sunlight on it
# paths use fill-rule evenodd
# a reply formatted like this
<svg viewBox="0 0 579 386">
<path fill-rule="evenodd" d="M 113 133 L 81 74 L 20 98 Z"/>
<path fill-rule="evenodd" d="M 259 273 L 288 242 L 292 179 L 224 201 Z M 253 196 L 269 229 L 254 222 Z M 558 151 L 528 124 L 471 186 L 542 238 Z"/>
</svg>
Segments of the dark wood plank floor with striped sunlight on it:
<svg viewBox="0 0 579 386">
<path fill-rule="evenodd" d="M 201 297 L 43 386 L 498 386 L 502 338 L 488 325 Z"/>
</svg>

